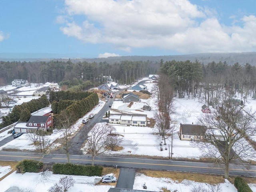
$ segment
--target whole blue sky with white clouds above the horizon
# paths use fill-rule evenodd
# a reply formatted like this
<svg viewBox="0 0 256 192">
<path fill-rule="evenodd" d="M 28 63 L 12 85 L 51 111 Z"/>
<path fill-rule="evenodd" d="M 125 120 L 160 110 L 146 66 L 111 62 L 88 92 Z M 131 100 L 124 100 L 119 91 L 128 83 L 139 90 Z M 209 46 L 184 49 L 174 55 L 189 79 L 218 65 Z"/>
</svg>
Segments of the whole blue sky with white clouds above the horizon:
<svg viewBox="0 0 256 192">
<path fill-rule="evenodd" d="M 255 51 L 255 0 L 0 0 L 0 58 Z"/>
</svg>

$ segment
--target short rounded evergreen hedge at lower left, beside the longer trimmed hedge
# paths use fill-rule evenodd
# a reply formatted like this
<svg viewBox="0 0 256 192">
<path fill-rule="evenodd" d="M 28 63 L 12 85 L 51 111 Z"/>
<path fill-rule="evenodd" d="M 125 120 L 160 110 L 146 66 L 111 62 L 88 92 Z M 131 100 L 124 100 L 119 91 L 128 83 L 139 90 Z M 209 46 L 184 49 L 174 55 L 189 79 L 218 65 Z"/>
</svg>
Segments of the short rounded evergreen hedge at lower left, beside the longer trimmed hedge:
<svg viewBox="0 0 256 192">
<path fill-rule="evenodd" d="M 26 173 L 26 172 L 39 173 L 43 171 L 43 168 L 44 168 L 44 164 L 42 162 L 25 159 L 19 162 L 19 164 L 16 166 L 16 172 L 17 173 Z"/>
</svg>

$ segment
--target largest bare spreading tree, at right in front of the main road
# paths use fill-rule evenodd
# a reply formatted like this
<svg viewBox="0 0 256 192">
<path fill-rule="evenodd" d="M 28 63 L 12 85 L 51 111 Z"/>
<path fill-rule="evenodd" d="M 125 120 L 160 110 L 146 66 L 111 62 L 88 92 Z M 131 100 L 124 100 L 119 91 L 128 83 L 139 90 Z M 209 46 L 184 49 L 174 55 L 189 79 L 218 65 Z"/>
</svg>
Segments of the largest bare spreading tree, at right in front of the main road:
<svg viewBox="0 0 256 192">
<path fill-rule="evenodd" d="M 244 111 L 239 106 L 222 102 L 220 114 L 206 114 L 198 119 L 199 124 L 208 128 L 206 137 L 198 142 L 206 156 L 224 162 L 224 177 L 229 178 L 231 162 L 245 162 L 255 158 L 255 150 L 245 140 L 256 134 L 255 114 L 251 109 Z"/>
</svg>

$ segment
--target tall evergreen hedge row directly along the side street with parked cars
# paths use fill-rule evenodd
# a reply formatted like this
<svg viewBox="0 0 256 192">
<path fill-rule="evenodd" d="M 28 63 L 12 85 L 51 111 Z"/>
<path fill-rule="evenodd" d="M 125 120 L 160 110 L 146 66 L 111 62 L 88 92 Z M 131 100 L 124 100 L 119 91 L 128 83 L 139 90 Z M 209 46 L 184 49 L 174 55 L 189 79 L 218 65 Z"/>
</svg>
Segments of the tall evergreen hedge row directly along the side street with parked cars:
<svg viewBox="0 0 256 192">
<path fill-rule="evenodd" d="M 82 118 L 87 112 L 92 110 L 96 104 L 98 104 L 99 98 L 96 93 L 90 94 L 88 97 L 83 98 L 80 101 L 70 102 L 72 103 L 66 109 L 62 110 L 60 114 L 54 115 L 54 127 L 62 128 L 63 122 L 69 119 L 69 124 L 73 124 L 79 118 Z M 54 110 L 58 110 L 58 103 L 53 102 Z"/>
</svg>

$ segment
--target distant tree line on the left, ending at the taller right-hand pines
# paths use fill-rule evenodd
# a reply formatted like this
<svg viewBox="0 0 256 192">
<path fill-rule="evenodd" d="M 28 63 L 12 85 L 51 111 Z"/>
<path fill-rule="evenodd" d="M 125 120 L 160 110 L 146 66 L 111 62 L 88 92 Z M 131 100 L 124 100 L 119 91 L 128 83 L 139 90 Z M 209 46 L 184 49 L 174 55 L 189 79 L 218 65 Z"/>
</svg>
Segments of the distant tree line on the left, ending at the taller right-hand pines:
<svg viewBox="0 0 256 192">
<path fill-rule="evenodd" d="M 106 83 L 104 76 L 111 76 L 120 84 L 132 82 L 156 74 L 158 62 L 121 61 L 114 64 L 107 62 L 72 62 L 52 60 L 49 62 L 4 62 L 0 61 L 0 86 L 11 84 L 14 79 L 24 79 L 32 83 L 63 82 L 70 86 L 86 80 L 93 85 Z"/>
</svg>

